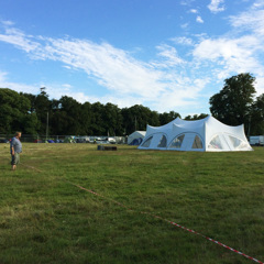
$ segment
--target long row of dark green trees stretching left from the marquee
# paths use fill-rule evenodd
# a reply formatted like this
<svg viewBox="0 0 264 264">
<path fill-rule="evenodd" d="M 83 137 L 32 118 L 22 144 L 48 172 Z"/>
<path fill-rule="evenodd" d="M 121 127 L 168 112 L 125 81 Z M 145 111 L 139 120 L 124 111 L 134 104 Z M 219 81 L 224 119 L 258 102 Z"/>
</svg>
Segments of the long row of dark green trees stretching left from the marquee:
<svg viewBox="0 0 264 264">
<path fill-rule="evenodd" d="M 50 135 L 128 135 L 145 130 L 146 124 L 163 125 L 180 118 L 174 111 L 158 113 L 135 105 L 120 109 L 112 103 L 80 103 L 72 97 L 50 99 L 38 95 L 0 89 L 0 134 L 22 131 L 24 134 Z M 48 131 L 46 131 L 48 129 Z"/>
</svg>

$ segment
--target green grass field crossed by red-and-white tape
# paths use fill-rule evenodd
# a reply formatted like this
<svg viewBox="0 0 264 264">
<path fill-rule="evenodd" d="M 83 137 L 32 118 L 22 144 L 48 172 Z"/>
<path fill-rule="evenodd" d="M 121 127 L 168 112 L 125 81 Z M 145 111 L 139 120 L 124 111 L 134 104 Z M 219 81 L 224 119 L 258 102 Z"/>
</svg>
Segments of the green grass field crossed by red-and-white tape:
<svg viewBox="0 0 264 264">
<path fill-rule="evenodd" d="M 9 160 L 0 144 L 1 264 L 254 263 L 141 211 L 264 262 L 264 147 L 102 152 L 28 143 L 16 172 Z"/>
</svg>

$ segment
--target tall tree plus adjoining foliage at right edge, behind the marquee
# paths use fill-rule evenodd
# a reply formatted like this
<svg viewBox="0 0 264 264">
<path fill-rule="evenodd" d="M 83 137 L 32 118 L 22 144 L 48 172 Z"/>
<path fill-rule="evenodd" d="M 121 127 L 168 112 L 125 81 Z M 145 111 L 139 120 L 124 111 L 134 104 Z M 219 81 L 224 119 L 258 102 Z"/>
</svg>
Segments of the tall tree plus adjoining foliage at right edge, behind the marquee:
<svg viewBox="0 0 264 264">
<path fill-rule="evenodd" d="M 264 94 L 254 100 L 254 84 L 251 74 L 226 79 L 223 89 L 210 98 L 212 116 L 230 125 L 244 123 L 248 135 L 264 134 Z"/>
</svg>

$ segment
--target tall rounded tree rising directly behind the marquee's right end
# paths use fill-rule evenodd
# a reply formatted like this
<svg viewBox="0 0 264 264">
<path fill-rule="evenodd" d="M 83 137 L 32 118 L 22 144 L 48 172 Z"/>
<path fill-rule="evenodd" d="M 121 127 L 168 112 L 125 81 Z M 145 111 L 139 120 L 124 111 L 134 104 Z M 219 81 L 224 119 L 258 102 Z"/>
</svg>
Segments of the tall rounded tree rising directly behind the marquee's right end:
<svg viewBox="0 0 264 264">
<path fill-rule="evenodd" d="M 224 87 L 210 98 L 210 111 L 215 118 L 229 125 L 249 123 L 255 77 L 239 74 L 224 80 Z"/>
</svg>

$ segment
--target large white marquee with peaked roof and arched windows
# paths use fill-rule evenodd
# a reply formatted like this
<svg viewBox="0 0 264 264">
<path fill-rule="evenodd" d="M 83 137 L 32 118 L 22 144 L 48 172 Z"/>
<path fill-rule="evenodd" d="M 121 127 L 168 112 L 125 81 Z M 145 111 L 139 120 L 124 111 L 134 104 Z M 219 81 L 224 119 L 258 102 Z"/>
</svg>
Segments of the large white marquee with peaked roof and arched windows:
<svg viewBox="0 0 264 264">
<path fill-rule="evenodd" d="M 252 151 L 244 125 L 230 127 L 211 116 L 196 121 L 179 118 L 162 125 L 147 125 L 140 150 L 229 152 Z"/>
</svg>

